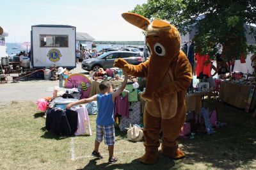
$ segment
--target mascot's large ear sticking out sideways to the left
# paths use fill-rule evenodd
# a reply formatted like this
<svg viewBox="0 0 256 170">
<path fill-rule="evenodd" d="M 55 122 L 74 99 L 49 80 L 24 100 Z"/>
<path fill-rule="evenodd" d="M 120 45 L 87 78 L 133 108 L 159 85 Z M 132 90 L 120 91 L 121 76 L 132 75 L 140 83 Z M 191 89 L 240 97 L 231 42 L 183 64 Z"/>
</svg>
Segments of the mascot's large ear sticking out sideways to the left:
<svg viewBox="0 0 256 170">
<path fill-rule="evenodd" d="M 146 31 L 148 25 L 150 24 L 150 21 L 146 19 L 145 17 L 138 15 L 136 13 L 122 13 L 122 17 L 132 25 L 136 27 L 140 27 L 140 29 L 143 29 Z"/>
</svg>

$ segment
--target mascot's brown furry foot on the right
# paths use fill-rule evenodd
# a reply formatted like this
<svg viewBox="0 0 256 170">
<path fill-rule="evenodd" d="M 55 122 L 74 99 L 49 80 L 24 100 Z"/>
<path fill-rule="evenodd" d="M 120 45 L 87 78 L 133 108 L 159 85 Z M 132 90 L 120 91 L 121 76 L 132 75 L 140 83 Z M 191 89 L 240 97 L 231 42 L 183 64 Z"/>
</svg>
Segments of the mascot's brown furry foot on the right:
<svg viewBox="0 0 256 170">
<path fill-rule="evenodd" d="M 176 146 L 173 148 L 163 148 L 162 146 L 162 150 L 161 153 L 169 158 L 173 158 L 174 160 L 179 160 L 181 158 L 185 157 L 185 153 L 181 150 L 179 150 L 179 148 L 177 148 Z"/>
</svg>

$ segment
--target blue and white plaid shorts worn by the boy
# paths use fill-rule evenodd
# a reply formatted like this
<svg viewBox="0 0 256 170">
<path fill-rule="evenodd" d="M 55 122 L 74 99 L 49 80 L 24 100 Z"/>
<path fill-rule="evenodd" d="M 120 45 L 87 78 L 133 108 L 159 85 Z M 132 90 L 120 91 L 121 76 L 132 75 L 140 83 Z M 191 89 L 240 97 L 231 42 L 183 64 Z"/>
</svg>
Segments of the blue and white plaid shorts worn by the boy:
<svg viewBox="0 0 256 170">
<path fill-rule="evenodd" d="M 115 127 L 114 125 L 96 125 L 96 140 L 101 143 L 104 137 L 104 142 L 106 145 L 115 144 Z"/>
</svg>

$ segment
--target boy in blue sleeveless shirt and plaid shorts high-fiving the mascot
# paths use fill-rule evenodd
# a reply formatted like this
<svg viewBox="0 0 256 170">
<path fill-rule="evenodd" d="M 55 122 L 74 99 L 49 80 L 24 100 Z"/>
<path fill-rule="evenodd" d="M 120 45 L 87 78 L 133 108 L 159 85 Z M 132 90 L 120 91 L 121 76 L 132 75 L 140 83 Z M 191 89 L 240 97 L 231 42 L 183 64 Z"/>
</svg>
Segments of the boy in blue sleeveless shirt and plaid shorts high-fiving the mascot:
<svg viewBox="0 0 256 170">
<path fill-rule="evenodd" d="M 125 86 L 128 80 L 128 74 L 124 72 L 125 79 L 121 88 L 113 92 L 111 82 L 102 81 L 99 84 L 100 94 L 94 95 L 90 98 L 84 98 L 77 102 L 73 102 L 67 105 L 67 109 L 74 105 L 86 104 L 88 102 L 97 101 L 98 104 L 98 115 L 96 119 L 96 139 L 95 139 L 95 148 L 92 152 L 92 155 L 97 158 L 102 158 L 99 152 L 99 146 L 102 142 L 104 136 L 104 142 L 108 145 L 109 151 L 109 163 L 114 163 L 118 158 L 113 156 L 114 153 L 114 144 L 115 144 L 115 128 L 114 128 L 114 107 L 115 99 L 124 91 Z"/>
</svg>

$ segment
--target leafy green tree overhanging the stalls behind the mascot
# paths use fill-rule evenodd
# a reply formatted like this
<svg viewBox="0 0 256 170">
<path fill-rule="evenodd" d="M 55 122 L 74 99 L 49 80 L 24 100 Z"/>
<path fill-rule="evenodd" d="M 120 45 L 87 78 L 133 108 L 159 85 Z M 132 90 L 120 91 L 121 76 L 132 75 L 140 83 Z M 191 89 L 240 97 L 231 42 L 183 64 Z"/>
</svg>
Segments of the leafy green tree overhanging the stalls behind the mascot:
<svg viewBox="0 0 256 170">
<path fill-rule="evenodd" d="M 245 37 L 246 24 L 256 23 L 255 0 L 148 0 L 131 12 L 168 20 L 183 35 L 196 26 L 195 51 L 211 57 L 220 45 L 227 60 L 256 51 Z M 250 29 L 250 34 L 256 38 L 256 30 Z"/>
</svg>

